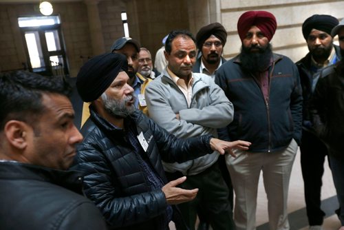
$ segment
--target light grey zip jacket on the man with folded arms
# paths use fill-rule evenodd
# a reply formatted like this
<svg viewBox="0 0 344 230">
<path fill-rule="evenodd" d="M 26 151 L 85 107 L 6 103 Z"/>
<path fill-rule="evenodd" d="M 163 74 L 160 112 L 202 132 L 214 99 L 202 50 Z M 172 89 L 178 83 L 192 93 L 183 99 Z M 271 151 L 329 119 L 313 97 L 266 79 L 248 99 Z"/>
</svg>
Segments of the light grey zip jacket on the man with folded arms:
<svg viewBox="0 0 344 230">
<path fill-rule="evenodd" d="M 191 106 L 166 69 L 152 81 L 144 92 L 149 116 L 167 132 L 179 138 L 212 134 L 233 121 L 233 105 L 210 76 L 193 73 Z M 178 120 L 175 114 L 180 115 Z M 185 163 L 163 163 L 165 171 L 180 171 L 195 175 L 216 162 L 219 154 L 213 152 Z"/>
</svg>

